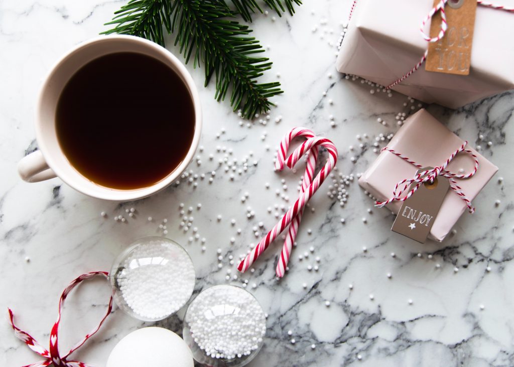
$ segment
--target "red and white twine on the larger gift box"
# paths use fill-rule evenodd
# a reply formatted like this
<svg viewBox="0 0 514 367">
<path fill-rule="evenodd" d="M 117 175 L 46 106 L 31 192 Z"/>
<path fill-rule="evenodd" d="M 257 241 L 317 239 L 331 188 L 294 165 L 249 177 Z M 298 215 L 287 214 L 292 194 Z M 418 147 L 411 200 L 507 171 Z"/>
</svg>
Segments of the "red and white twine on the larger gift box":
<svg viewBox="0 0 514 367">
<path fill-rule="evenodd" d="M 506 7 L 503 5 L 497 5 L 497 4 L 489 3 L 486 1 L 482 1 L 482 0 L 476 0 L 476 2 L 478 3 L 478 5 L 487 6 L 487 7 L 493 8 L 493 9 L 514 11 L 514 7 Z M 428 42 L 438 42 L 440 39 L 442 39 L 444 37 L 446 30 L 448 29 L 448 24 L 446 23 L 446 13 L 445 13 L 446 3 L 448 3 L 448 0 L 441 0 L 439 3 L 437 3 L 437 5 L 430 10 L 428 15 L 423 20 L 423 22 L 421 22 L 421 27 L 419 30 L 420 30 L 421 36 L 423 36 L 424 40 L 426 40 Z M 352 19 L 352 15 L 353 15 L 356 5 L 357 5 L 357 0 L 354 0 L 354 2 L 352 4 L 352 8 L 350 10 L 350 17 L 349 17 L 348 21 L 350 21 Z M 429 20 L 431 20 L 432 17 L 437 12 L 441 13 L 441 28 L 439 29 L 439 33 L 437 34 L 437 36 L 435 36 L 434 38 L 430 38 L 430 36 L 425 33 L 425 26 L 426 26 L 427 22 Z M 419 67 L 421 65 L 423 65 L 423 63 L 427 60 L 427 56 L 428 56 L 428 50 L 425 51 L 425 53 L 423 54 L 423 56 L 421 57 L 419 62 L 412 69 L 410 69 L 408 72 L 406 72 L 406 74 L 403 74 L 400 78 L 396 79 L 391 84 L 387 85 L 386 89 L 393 88 L 395 85 L 401 83 L 402 81 L 409 78 L 412 74 L 414 74 L 414 72 L 416 72 L 416 70 L 419 69 Z"/>
</svg>

